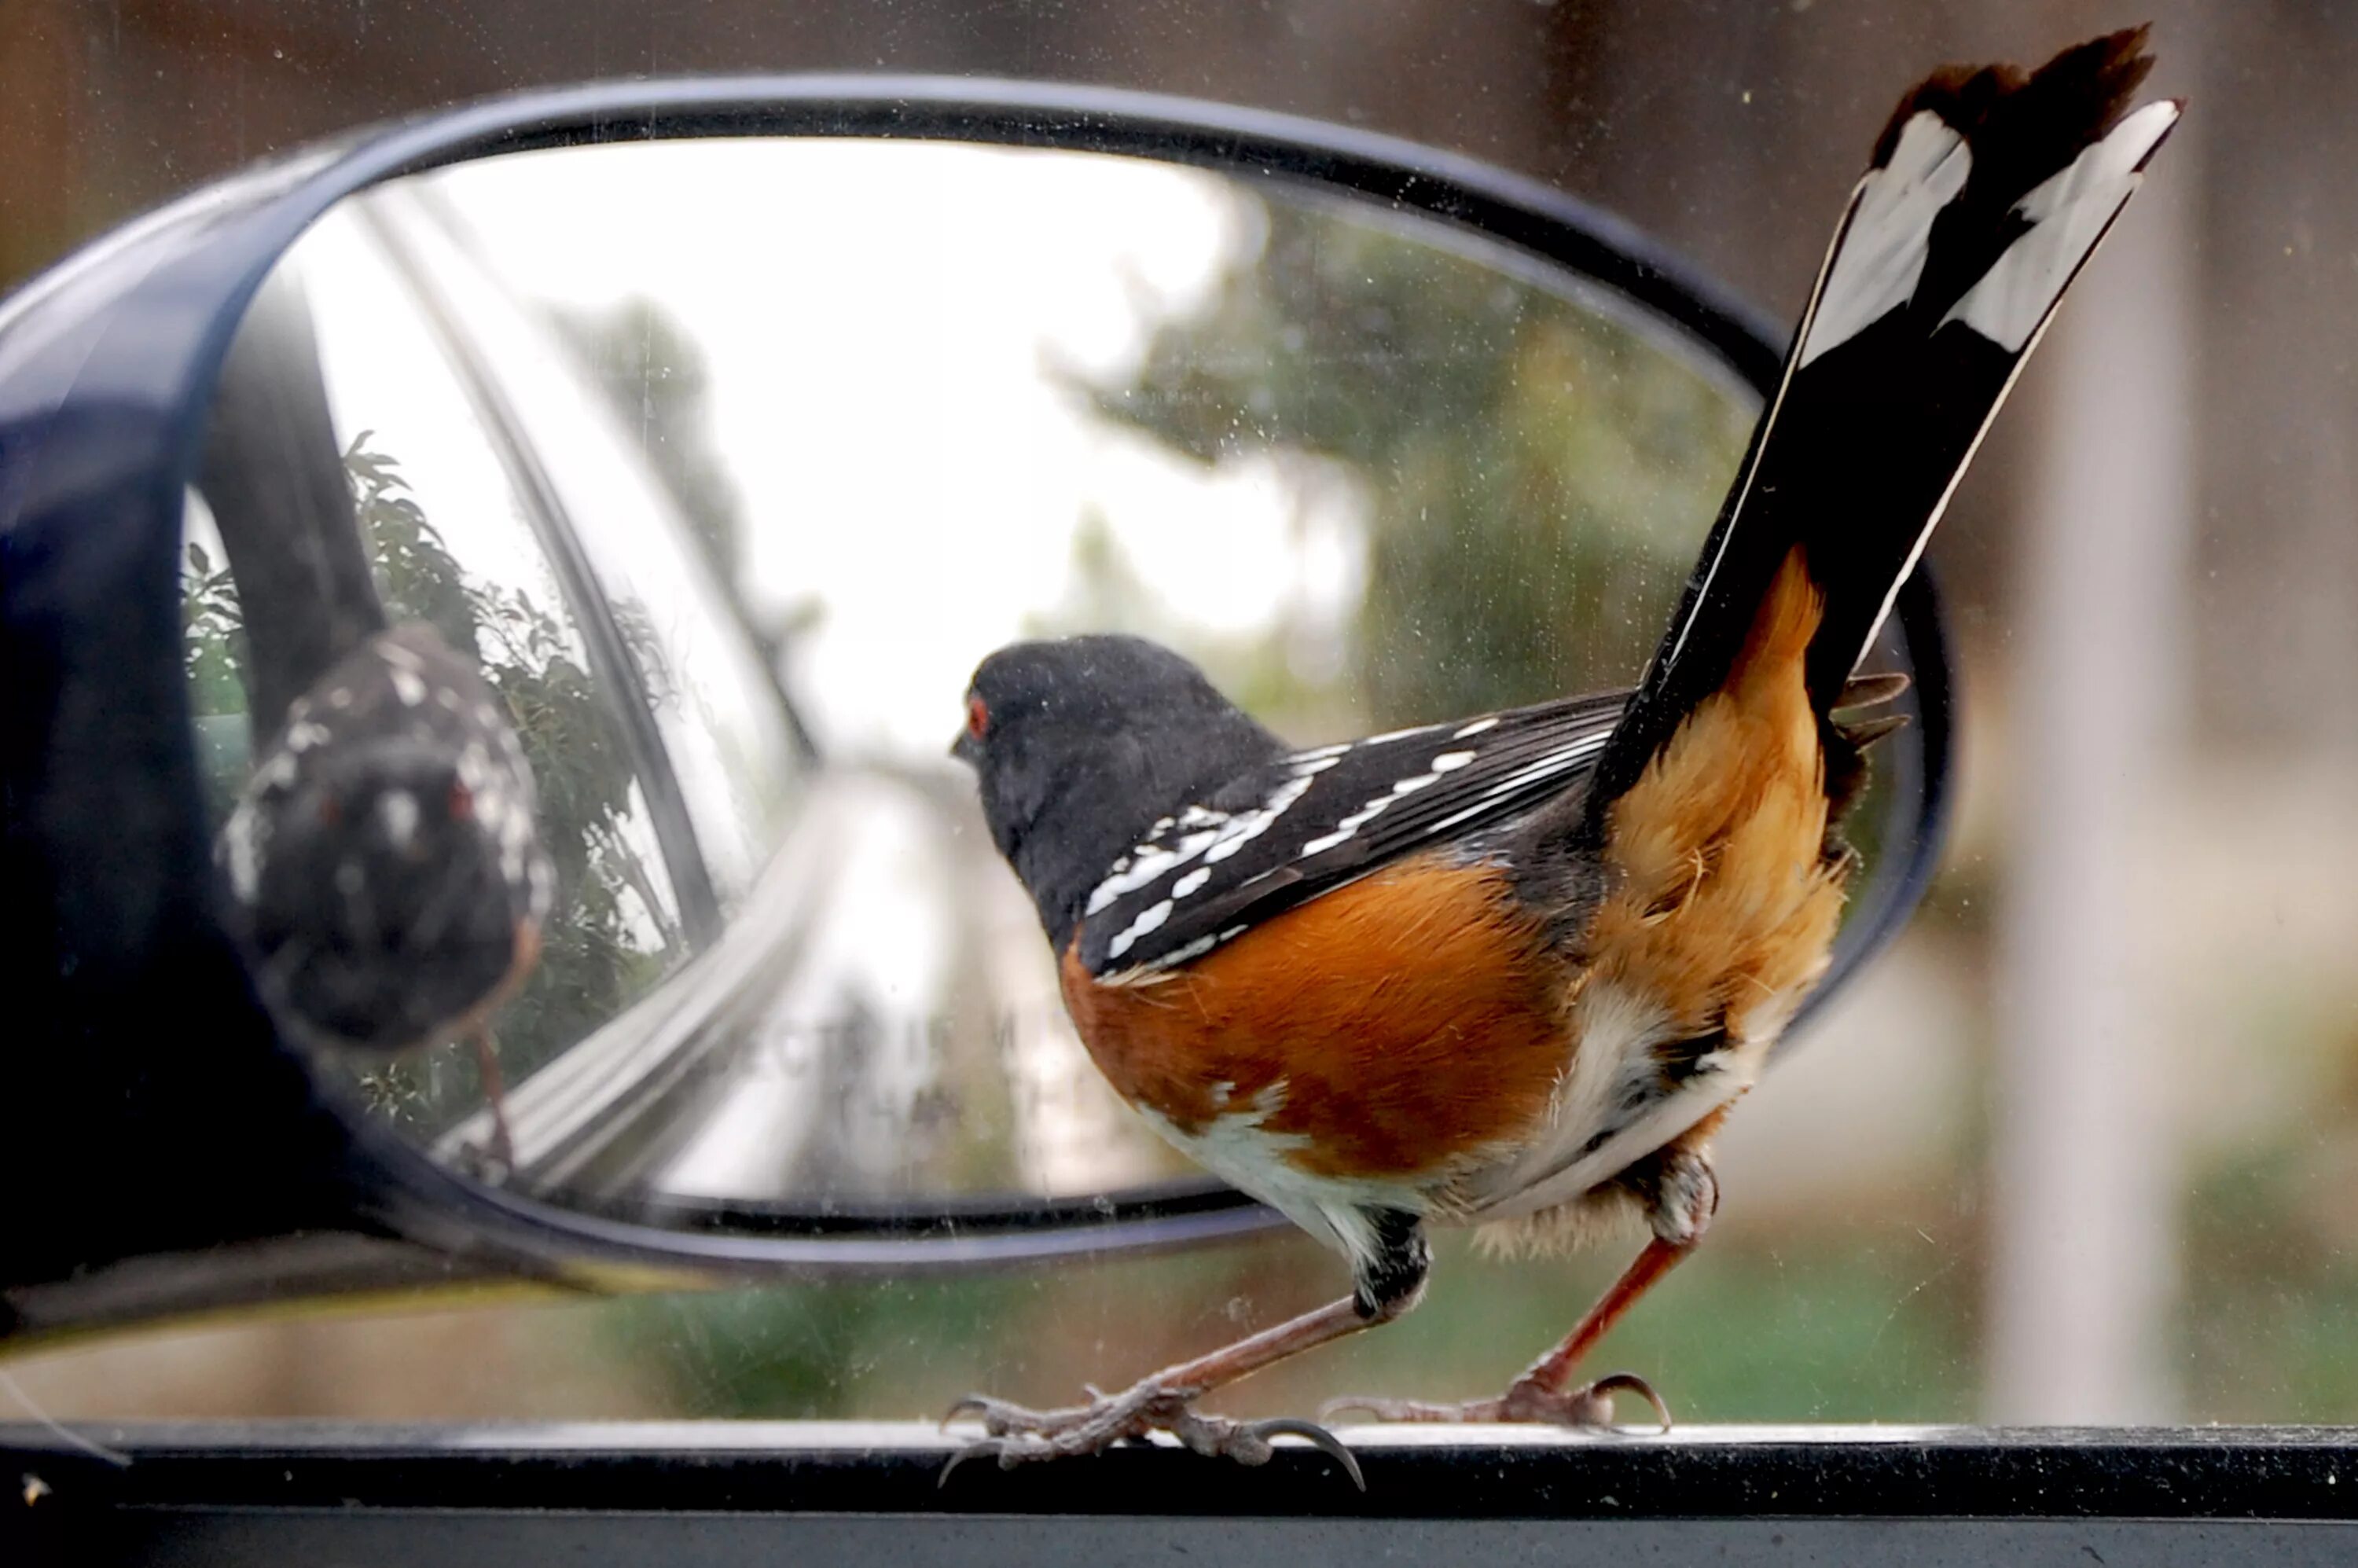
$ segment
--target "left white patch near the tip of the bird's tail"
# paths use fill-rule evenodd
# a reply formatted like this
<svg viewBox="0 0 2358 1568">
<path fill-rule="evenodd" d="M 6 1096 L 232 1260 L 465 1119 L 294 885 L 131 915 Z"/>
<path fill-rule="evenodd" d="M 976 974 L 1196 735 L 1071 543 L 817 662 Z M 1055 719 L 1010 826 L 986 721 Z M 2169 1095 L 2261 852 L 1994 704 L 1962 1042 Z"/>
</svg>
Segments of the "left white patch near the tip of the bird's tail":
<svg viewBox="0 0 2358 1568">
<path fill-rule="evenodd" d="M 1957 200 L 1974 156 L 1964 137 L 1922 108 L 1908 116 L 1891 163 L 1868 170 L 1842 250 L 1802 344 L 1802 365 L 1868 330 L 1915 297 L 1931 248 L 1931 219 Z"/>
</svg>

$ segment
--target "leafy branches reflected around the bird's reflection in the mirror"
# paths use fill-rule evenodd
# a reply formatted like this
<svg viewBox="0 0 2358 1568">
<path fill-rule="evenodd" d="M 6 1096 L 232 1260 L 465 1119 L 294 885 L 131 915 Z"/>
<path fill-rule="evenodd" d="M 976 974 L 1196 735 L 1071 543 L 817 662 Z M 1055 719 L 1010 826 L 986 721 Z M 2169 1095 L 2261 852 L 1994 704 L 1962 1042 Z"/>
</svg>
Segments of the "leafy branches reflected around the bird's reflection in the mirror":
<svg viewBox="0 0 2358 1568">
<path fill-rule="evenodd" d="M 554 611 L 523 587 L 469 578 L 408 490 L 401 465 L 354 436 L 344 453 L 354 519 L 387 618 L 422 620 L 507 703 L 540 788 L 540 837 L 556 863 L 559 908 L 533 983 L 498 1019 L 500 1054 L 521 1075 L 615 1016 L 677 948 L 660 863 L 632 835 L 632 766 L 606 698 Z M 184 648 L 196 712 L 248 705 L 243 608 L 226 568 L 184 552 Z M 276 719 L 264 722 L 264 731 Z M 479 1096 L 462 1054 L 373 1066 L 380 1108 L 441 1127 Z"/>
</svg>

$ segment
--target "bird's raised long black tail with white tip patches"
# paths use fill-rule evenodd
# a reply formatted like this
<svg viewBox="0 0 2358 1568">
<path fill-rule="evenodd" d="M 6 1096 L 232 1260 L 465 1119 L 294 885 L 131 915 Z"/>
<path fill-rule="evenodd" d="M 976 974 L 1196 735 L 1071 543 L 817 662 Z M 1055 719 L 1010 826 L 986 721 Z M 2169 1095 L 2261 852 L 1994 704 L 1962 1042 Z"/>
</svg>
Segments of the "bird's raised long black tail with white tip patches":
<svg viewBox="0 0 2358 1568">
<path fill-rule="evenodd" d="M 1948 66 L 1905 99 L 1851 193 L 1783 382 L 1599 762 L 1587 823 L 1731 674 L 1799 547 L 1825 597 L 1809 646 L 1820 719 L 1915 566 L 2056 299 L 2179 118 L 2129 111 L 2146 28 L 2035 73 Z"/>
</svg>

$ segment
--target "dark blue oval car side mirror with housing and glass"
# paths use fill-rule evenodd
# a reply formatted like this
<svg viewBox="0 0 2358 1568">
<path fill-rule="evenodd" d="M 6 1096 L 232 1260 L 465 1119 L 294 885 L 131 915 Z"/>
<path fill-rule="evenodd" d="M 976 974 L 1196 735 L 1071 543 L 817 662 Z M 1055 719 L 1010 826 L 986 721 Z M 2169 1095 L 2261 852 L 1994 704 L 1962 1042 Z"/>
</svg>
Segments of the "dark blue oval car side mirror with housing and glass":
<svg viewBox="0 0 2358 1568">
<path fill-rule="evenodd" d="M 1151 632 L 1304 745 L 1627 686 L 1778 351 L 1497 170 L 1005 83 L 528 94 L 94 243 L 0 304 L 0 1335 L 1266 1224 L 1089 1070 L 943 757 L 967 672 Z M 321 1023 L 238 872 L 389 627 L 462 665 L 394 705 L 519 747 L 549 877 L 495 1014 L 370 976 L 406 1052 Z M 1811 1007 L 1938 846 L 1926 573 L 1872 660 L 1912 724 Z"/>
</svg>

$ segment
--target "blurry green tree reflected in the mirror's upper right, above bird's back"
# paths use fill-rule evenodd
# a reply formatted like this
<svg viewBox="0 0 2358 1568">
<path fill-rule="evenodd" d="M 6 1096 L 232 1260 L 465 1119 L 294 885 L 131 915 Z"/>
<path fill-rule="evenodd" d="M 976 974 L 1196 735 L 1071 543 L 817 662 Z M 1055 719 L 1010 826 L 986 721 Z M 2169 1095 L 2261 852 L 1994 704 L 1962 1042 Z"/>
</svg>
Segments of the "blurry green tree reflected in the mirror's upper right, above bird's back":
<svg viewBox="0 0 2358 1568">
<path fill-rule="evenodd" d="M 1096 406 L 1203 462 L 1309 448 L 1368 479 L 1353 672 L 1375 722 L 1634 677 L 1750 410 L 1629 325 L 1427 241 L 1285 200 L 1266 224 Z"/>
</svg>

